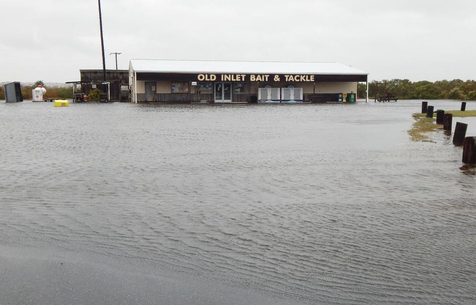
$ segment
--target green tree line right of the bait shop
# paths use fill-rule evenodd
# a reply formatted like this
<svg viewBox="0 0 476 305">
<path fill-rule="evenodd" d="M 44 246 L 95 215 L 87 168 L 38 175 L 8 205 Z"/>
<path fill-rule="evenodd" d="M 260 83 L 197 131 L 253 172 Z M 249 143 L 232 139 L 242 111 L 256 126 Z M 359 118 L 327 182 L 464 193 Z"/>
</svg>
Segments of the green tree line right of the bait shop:
<svg viewBox="0 0 476 305">
<path fill-rule="evenodd" d="M 412 82 L 408 79 L 373 80 L 369 82 L 369 98 L 376 95 L 393 95 L 401 100 L 476 100 L 475 80 L 422 80 Z M 357 84 L 357 95 L 365 98 L 365 83 Z"/>
</svg>

